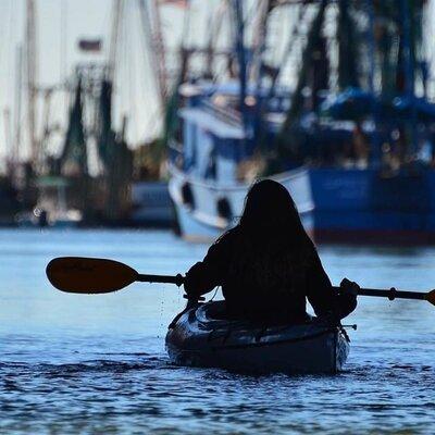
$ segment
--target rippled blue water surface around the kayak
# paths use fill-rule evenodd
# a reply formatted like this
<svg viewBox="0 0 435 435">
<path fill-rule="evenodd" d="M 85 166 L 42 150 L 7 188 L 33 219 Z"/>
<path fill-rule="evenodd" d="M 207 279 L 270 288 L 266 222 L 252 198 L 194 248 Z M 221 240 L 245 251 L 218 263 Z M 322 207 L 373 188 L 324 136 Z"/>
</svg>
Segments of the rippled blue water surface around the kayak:
<svg viewBox="0 0 435 435">
<path fill-rule="evenodd" d="M 243 376 L 171 365 L 171 285 L 62 294 L 57 256 L 107 257 L 144 273 L 184 272 L 207 246 L 164 232 L 0 231 L 0 433 L 434 433 L 435 308 L 360 298 L 337 376 Z M 333 283 L 425 290 L 434 249 L 324 247 Z M 219 295 L 217 295 L 219 297 Z"/>
</svg>

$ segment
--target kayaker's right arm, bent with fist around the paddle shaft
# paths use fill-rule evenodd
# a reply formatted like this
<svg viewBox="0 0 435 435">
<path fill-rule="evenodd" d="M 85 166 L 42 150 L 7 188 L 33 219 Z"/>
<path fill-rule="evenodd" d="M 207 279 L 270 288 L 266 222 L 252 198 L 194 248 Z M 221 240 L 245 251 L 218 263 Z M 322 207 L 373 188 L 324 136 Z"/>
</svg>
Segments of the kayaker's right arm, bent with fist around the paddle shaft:
<svg viewBox="0 0 435 435">
<path fill-rule="evenodd" d="M 315 252 L 307 283 L 307 298 L 314 309 L 315 315 L 340 320 L 350 314 L 357 307 L 356 294 L 348 290 L 353 285 L 356 284 L 345 285 L 344 291 L 340 294 L 334 290 L 319 254 Z"/>
</svg>

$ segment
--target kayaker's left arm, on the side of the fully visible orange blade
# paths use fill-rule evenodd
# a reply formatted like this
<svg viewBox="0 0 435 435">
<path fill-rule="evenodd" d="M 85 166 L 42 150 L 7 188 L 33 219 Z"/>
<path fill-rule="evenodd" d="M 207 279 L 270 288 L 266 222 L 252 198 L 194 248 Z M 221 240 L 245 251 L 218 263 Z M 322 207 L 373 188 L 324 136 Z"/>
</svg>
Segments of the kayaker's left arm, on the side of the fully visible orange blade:
<svg viewBox="0 0 435 435">
<path fill-rule="evenodd" d="M 197 298 L 222 285 L 222 246 L 212 245 L 202 261 L 194 264 L 186 273 L 184 289 L 188 297 Z"/>
</svg>

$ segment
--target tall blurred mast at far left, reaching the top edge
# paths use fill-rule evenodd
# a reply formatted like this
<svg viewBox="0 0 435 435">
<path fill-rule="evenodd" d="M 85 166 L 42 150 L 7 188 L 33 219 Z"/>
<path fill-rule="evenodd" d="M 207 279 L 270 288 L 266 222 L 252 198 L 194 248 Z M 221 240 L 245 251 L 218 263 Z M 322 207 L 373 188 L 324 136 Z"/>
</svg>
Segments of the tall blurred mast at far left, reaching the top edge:
<svg viewBox="0 0 435 435">
<path fill-rule="evenodd" d="M 27 128 L 30 161 L 36 164 L 38 144 L 36 139 L 37 41 L 35 0 L 27 0 L 26 5 Z"/>
</svg>

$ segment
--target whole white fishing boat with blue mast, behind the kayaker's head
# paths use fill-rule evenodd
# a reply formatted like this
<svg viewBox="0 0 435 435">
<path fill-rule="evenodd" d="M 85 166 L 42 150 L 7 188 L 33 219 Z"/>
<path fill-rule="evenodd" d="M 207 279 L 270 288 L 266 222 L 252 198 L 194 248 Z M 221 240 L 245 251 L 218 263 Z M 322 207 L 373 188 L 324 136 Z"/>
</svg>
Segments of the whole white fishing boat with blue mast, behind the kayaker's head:
<svg viewBox="0 0 435 435">
<path fill-rule="evenodd" d="M 177 128 L 166 135 L 169 190 L 179 234 L 189 240 L 210 240 L 232 227 L 249 187 L 262 176 L 289 190 L 303 226 L 312 231 L 307 167 L 300 161 L 282 160 L 273 169 L 268 164 L 277 152 L 281 114 L 290 98 L 287 88 L 263 88 L 261 80 L 248 80 L 241 5 L 234 2 L 238 36 L 232 55 L 238 60 L 238 78 L 216 83 L 201 77 L 176 89 L 176 100 L 183 103 L 175 113 L 172 109 Z"/>
</svg>

